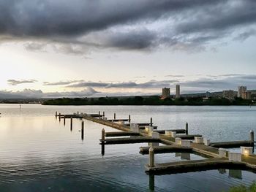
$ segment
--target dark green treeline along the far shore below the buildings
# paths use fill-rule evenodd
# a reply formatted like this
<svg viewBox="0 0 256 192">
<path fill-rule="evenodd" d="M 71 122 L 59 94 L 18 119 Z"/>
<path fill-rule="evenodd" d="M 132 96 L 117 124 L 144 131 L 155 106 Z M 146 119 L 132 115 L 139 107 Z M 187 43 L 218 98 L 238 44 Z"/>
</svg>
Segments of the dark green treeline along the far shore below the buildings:
<svg viewBox="0 0 256 192">
<path fill-rule="evenodd" d="M 45 105 L 250 105 L 251 100 L 236 98 L 233 101 L 225 98 L 201 97 L 160 99 L 159 96 L 134 96 L 127 98 L 100 97 L 100 98 L 61 98 L 44 101 Z"/>
</svg>

